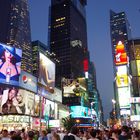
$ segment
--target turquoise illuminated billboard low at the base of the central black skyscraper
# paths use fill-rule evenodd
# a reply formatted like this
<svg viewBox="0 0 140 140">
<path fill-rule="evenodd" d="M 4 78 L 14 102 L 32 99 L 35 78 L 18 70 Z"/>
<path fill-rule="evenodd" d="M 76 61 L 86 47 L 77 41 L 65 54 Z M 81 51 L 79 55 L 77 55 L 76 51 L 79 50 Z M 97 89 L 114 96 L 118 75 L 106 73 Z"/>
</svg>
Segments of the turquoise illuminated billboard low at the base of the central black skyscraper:
<svg viewBox="0 0 140 140">
<path fill-rule="evenodd" d="M 86 118 L 91 115 L 90 109 L 84 106 L 71 106 L 70 112 L 72 118 Z"/>
</svg>

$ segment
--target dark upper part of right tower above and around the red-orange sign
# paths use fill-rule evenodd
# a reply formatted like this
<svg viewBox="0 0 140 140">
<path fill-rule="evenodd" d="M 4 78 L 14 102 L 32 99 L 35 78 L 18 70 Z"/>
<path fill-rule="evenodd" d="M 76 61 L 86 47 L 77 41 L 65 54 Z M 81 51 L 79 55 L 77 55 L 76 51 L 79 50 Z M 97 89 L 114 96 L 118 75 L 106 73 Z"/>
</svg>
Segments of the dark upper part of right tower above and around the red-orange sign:
<svg viewBox="0 0 140 140">
<path fill-rule="evenodd" d="M 115 47 L 119 41 L 123 42 L 128 52 L 128 39 L 131 38 L 131 27 L 125 12 L 110 11 L 110 35 L 112 43 L 112 56 L 114 61 Z"/>
</svg>

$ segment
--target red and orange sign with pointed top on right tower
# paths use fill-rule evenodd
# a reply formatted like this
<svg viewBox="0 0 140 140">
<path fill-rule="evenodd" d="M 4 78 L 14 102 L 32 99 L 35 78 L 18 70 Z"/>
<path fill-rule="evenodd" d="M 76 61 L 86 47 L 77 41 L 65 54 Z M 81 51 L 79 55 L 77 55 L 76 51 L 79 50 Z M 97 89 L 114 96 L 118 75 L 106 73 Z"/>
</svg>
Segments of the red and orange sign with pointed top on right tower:
<svg viewBox="0 0 140 140">
<path fill-rule="evenodd" d="M 116 52 L 116 54 L 115 54 L 115 64 L 116 65 L 127 64 L 127 62 L 128 62 L 127 54 L 126 54 L 126 51 L 125 51 L 124 44 L 122 44 L 121 41 L 119 41 L 119 43 L 117 44 L 115 52 Z"/>
</svg>

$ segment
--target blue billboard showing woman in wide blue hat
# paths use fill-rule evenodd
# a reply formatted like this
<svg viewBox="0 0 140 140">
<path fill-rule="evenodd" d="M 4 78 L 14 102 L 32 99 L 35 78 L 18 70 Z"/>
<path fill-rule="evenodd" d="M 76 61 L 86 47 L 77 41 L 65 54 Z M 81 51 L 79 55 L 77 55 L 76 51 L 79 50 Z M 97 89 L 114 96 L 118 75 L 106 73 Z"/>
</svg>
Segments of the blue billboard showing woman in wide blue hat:
<svg viewBox="0 0 140 140">
<path fill-rule="evenodd" d="M 22 50 L 0 43 L 0 83 L 18 85 Z"/>
</svg>

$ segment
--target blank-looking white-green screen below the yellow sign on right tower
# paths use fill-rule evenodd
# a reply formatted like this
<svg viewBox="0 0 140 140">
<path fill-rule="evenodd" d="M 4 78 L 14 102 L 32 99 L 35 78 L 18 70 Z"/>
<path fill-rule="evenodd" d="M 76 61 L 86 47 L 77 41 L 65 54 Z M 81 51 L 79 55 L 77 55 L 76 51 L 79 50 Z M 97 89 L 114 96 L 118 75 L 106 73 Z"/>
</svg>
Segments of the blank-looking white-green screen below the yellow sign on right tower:
<svg viewBox="0 0 140 140">
<path fill-rule="evenodd" d="M 120 108 L 130 108 L 130 88 L 118 88 L 118 100 Z"/>
</svg>

